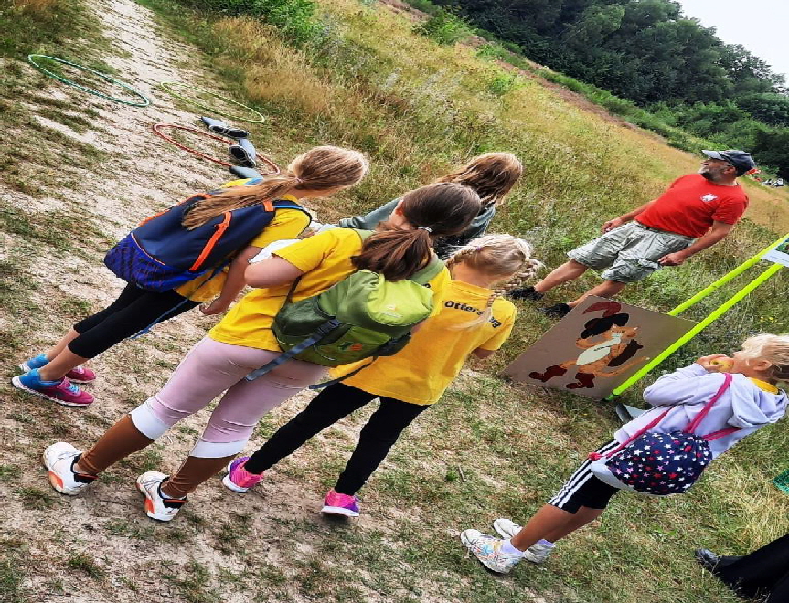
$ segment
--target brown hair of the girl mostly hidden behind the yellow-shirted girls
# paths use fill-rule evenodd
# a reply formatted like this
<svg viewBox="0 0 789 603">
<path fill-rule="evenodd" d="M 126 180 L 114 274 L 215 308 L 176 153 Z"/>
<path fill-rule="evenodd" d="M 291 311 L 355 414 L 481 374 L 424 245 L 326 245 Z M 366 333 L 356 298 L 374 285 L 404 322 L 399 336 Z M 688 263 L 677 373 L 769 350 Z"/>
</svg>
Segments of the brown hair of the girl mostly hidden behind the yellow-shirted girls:
<svg viewBox="0 0 789 603">
<path fill-rule="evenodd" d="M 436 182 L 454 182 L 471 186 L 479 195 L 482 206 L 497 205 L 523 174 L 523 165 L 512 153 L 485 153 Z"/>
</svg>

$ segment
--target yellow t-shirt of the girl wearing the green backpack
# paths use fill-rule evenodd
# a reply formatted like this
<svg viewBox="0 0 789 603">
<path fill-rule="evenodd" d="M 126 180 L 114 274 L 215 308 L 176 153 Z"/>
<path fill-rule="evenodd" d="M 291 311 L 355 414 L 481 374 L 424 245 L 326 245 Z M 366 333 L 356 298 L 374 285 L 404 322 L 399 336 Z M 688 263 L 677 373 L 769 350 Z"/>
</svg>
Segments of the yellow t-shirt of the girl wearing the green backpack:
<svg viewBox="0 0 789 603">
<path fill-rule="evenodd" d="M 362 239 L 356 230 L 333 228 L 278 249 L 274 255 L 286 259 L 304 272 L 293 291 L 292 301 L 299 302 L 323 293 L 355 272 L 351 256 L 356 256 L 361 249 Z M 449 282 L 449 270 L 444 268 L 428 283 L 436 300 L 435 312 L 440 310 L 442 291 Z M 272 332 L 272 323 L 274 316 L 283 307 L 291 284 L 247 293 L 225 318 L 208 332 L 208 337 L 223 344 L 280 352 L 280 346 Z"/>
</svg>

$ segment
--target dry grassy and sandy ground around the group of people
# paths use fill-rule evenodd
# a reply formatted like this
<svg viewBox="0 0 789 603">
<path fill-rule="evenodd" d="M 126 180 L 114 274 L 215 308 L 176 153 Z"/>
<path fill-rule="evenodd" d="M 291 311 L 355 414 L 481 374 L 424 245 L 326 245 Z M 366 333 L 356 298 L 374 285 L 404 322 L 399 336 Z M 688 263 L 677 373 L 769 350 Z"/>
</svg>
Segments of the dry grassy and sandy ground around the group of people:
<svg viewBox="0 0 789 603">
<path fill-rule="evenodd" d="M 108 31 L 99 11 L 117 11 L 118 27 L 144 27 L 134 39 L 142 49 L 122 46 L 123 32 Z M 16 134 L 0 144 L 6 377 L 19 359 L 112 299 L 118 283 L 101 268 L 101 253 L 114 238 L 139 217 L 227 178 L 147 133 L 153 121 L 194 120 L 188 107 L 155 93 L 150 111 L 86 100 L 28 69 L 28 52 L 66 53 L 126 78 L 138 72 L 124 65 L 149 61 L 145 91 L 155 92 L 149 84 L 167 77 L 233 95 L 268 116 L 252 126 L 253 140 L 280 164 L 318 143 L 365 151 L 371 175 L 317 204 L 322 221 L 377 206 L 476 153 L 516 153 L 525 175 L 493 229 L 528 238 L 550 267 L 603 221 L 697 169 L 698 158 L 584 111 L 537 80 L 524 78 L 502 93 L 495 63 L 476 58 L 473 48 L 442 47 L 414 34 L 413 23 L 385 5 L 333 0 L 320 13 L 320 36 L 296 48 L 275 27 L 193 12 L 173 0 L 0 2 L 7 37 L 0 59 L 12 84 L 2 108 Z M 145 47 L 151 40 L 159 54 Z M 747 187 L 749 218 L 730 238 L 629 289 L 624 300 L 665 312 L 789 231 L 789 196 Z M 688 317 L 709 312 L 744 280 Z M 589 275 L 551 300 L 596 281 Z M 789 331 L 786 290 L 779 274 L 666 367 L 729 352 L 749 333 Z M 623 494 L 600 524 L 561 543 L 547 566 L 519 567 L 502 578 L 466 557 L 459 530 L 483 528 L 498 516 L 526 519 L 616 425 L 608 405 L 496 377 L 552 324 L 528 304 L 519 311 L 504 352 L 474 363 L 410 429 L 362 492 L 363 518 L 349 524 L 326 522 L 315 510 L 368 412 L 315 439 L 272 471 L 260 492 L 233 497 L 209 482 L 172 524 L 147 520 L 129 482 L 139 471 L 173 467 L 202 416 L 113 468 L 84 499 L 49 490 L 35 460 L 40 450 L 56 439 L 90 443 L 156 391 L 208 319 L 189 315 L 101 356 L 101 404 L 85 412 L 45 406 L 7 386 L 0 412 L 0 497 L 7 510 L 0 600 L 736 600 L 693 564 L 692 549 L 739 554 L 785 533 L 789 498 L 769 482 L 789 464 L 784 425 L 732 450 L 685 497 Z M 252 445 L 306 399 L 265 418 Z"/>
</svg>

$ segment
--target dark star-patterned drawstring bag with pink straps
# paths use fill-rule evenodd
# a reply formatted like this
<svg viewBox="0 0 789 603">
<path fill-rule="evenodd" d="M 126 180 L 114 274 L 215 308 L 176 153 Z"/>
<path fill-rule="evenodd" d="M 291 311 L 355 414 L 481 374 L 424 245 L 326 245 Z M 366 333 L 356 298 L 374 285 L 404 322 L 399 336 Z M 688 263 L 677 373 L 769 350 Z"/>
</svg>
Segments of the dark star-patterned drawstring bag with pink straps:
<svg viewBox="0 0 789 603">
<path fill-rule="evenodd" d="M 729 388 L 730 383 L 730 373 L 724 373 L 723 385 L 718 392 L 682 431 L 647 433 L 674 408 L 669 407 L 666 412 L 605 456 L 592 452 L 589 458 L 592 460 L 591 470 L 594 476 L 614 488 L 653 496 L 686 492 L 712 460 L 709 442 L 739 429 L 720 429 L 706 436 L 695 433 L 699 423 Z"/>
</svg>

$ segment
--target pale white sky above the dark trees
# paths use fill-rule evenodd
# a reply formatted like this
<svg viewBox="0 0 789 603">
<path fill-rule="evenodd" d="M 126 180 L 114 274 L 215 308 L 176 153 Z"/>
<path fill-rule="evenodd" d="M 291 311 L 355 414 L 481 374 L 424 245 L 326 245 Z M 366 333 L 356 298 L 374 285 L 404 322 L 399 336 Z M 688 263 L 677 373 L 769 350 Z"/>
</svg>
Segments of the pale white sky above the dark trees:
<svg viewBox="0 0 789 603">
<path fill-rule="evenodd" d="M 789 82 L 789 0 L 678 0 L 686 16 L 715 27 L 717 36 L 741 44 Z"/>
</svg>

